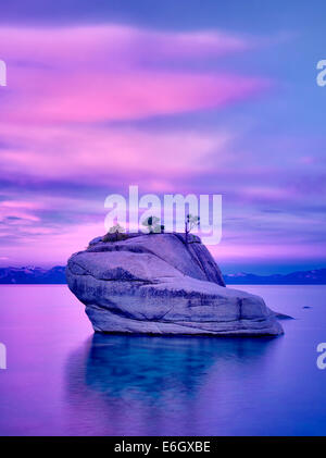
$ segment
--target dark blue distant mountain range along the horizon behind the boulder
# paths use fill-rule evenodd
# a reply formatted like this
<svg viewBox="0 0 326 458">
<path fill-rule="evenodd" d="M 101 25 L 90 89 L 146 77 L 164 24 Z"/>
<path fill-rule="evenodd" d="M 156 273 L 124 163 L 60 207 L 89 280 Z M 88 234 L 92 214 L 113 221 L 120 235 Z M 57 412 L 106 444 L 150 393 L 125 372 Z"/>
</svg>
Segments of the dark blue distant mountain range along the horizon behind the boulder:
<svg viewBox="0 0 326 458">
<path fill-rule="evenodd" d="M 65 268 L 62 265 L 55 265 L 52 269 L 0 268 L 0 284 L 62 285 L 66 283 L 64 271 Z M 287 275 L 234 273 L 223 276 L 227 285 L 326 285 L 326 269 L 300 271 Z"/>
</svg>

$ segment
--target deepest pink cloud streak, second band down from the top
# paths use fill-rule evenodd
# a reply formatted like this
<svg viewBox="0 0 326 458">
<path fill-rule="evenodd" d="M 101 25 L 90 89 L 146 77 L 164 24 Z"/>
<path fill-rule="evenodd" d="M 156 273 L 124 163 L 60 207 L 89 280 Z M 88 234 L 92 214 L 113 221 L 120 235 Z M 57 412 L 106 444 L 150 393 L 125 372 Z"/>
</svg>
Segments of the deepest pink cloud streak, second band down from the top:
<svg viewBox="0 0 326 458">
<path fill-rule="evenodd" d="M 156 71 L 42 75 L 20 71 L 12 85 L 24 88 L 9 97 L 2 121 L 97 122 L 141 119 L 221 108 L 266 88 L 259 78 L 193 75 Z"/>
</svg>

